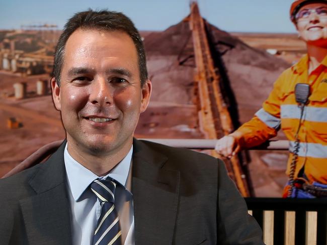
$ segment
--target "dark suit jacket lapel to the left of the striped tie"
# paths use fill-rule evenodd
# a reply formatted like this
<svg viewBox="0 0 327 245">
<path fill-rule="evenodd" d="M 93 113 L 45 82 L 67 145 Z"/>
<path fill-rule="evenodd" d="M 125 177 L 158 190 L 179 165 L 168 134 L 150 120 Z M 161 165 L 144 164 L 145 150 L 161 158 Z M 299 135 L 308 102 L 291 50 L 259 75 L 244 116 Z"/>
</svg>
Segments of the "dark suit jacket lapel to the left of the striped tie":
<svg viewBox="0 0 327 245">
<path fill-rule="evenodd" d="M 63 161 L 65 143 L 29 181 L 37 194 L 20 201 L 30 244 L 71 244 Z"/>
</svg>

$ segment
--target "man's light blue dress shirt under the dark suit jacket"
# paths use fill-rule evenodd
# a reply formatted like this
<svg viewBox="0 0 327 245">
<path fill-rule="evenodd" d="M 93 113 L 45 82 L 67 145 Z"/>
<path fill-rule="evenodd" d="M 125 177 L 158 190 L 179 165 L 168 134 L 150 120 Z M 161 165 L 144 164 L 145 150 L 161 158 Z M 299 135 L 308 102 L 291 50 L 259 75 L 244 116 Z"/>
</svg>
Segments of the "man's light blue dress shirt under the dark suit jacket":
<svg viewBox="0 0 327 245">
<path fill-rule="evenodd" d="M 125 189 L 127 177 L 130 172 L 133 146 L 126 157 L 106 176 L 99 177 L 83 165 L 75 161 L 67 150 L 64 151 L 64 162 L 67 174 L 67 190 L 71 207 L 72 242 L 73 245 L 92 244 L 93 233 L 100 217 L 101 206 L 98 198 L 91 191 L 90 184 L 98 178 L 105 179 L 111 177 L 118 181 L 122 186 L 115 192 L 115 207 L 118 209 L 123 206 L 125 201 L 129 201 L 129 224 L 128 233 L 124 245 L 134 245 L 134 210 L 132 194 Z"/>
</svg>

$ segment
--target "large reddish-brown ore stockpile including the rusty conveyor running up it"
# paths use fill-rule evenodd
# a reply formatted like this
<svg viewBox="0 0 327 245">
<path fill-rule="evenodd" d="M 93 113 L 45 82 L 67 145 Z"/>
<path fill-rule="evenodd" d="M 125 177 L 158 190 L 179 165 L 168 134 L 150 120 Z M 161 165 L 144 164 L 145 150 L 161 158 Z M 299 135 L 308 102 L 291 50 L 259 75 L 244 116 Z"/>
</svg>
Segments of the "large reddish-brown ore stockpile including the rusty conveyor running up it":
<svg viewBox="0 0 327 245">
<path fill-rule="evenodd" d="M 137 128 L 142 138 L 220 138 L 260 109 L 290 66 L 210 25 L 196 4 L 182 22 L 148 34 L 144 44 L 153 94 Z M 243 196 L 280 196 L 286 159 L 287 153 L 251 151 L 224 161 Z"/>
</svg>

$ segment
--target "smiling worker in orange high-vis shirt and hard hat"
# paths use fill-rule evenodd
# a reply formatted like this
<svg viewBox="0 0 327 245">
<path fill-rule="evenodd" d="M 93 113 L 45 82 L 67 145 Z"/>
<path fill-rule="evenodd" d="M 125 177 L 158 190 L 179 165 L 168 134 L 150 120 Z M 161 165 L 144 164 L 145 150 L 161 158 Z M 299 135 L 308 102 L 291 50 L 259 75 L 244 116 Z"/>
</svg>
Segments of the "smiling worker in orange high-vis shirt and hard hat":
<svg viewBox="0 0 327 245">
<path fill-rule="evenodd" d="M 281 128 L 290 141 L 283 197 L 327 197 L 327 1 L 294 1 L 290 18 L 307 54 L 280 75 L 250 121 L 218 140 L 216 151 L 230 158 Z"/>
</svg>

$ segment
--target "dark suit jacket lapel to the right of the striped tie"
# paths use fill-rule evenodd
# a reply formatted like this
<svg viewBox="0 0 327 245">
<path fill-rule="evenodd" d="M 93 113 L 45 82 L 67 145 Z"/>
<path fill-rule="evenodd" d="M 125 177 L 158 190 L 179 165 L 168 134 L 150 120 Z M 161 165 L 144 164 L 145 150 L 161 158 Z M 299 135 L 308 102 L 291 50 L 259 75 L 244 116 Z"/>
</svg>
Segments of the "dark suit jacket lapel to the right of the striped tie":
<svg viewBox="0 0 327 245">
<path fill-rule="evenodd" d="M 144 143 L 134 140 L 133 147 L 135 244 L 172 244 L 180 173 L 166 168 L 168 158 Z"/>
</svg>

